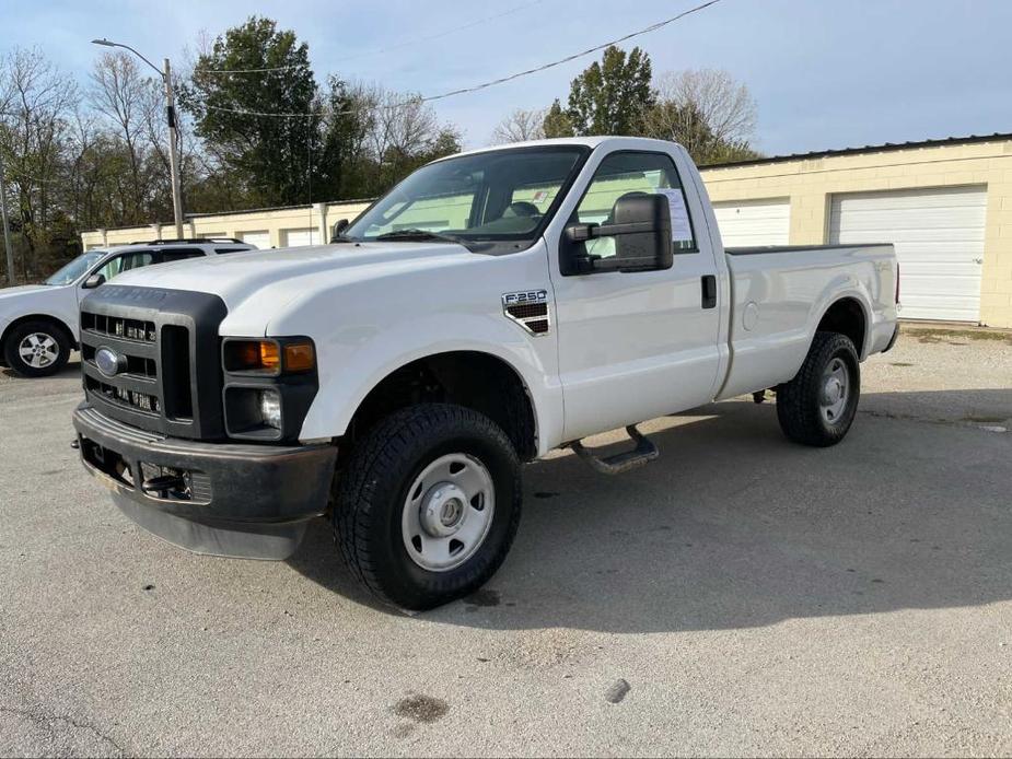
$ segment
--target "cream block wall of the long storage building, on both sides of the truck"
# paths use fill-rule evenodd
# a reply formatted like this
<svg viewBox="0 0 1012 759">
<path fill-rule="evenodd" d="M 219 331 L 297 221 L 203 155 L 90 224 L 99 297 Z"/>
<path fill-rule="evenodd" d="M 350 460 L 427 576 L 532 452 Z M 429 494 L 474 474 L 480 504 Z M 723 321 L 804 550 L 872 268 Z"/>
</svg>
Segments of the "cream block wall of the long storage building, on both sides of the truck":
<svg viewBox="0 0 1012 759">
<path fill-rule="evenodd" d="M 792 245 L 827 242 L 835 194 L 987 185 L 980 320 L 994 327 L 1012 327 L 1012 141 L 951 143 L 708 168 L 702 177 L 714 202 L 790 198 Z M 317 203 L 312 208 L 197 217 L 187 221 L 186 235 L 217 233 L 242 237 L 244 232 L 267 231 L 271 246 L 280 247 L 289 230 L 309 226 L 322 230 L 324 218 L 326 225 L 330 225 L 341 218 L 354 218 L 367 206 L 367 202 Z M 172 236 L 171 224 L 81 235 L 85 248 Z M 328 237 L 325 232 L 319 235 L 322 241 Z"/>
</svg>

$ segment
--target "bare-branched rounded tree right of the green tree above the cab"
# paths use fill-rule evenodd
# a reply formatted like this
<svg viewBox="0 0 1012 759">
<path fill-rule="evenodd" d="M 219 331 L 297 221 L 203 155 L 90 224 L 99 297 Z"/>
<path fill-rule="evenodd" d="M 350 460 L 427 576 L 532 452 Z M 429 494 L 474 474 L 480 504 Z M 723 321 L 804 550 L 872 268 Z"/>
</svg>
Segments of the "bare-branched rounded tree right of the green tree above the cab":
<svg viewBox="0 0 1012 759">
<path fill-rule="evenodd" d="M 681 143 L 699 164 L 757 157 L 755 125 L 748 87 L 710 69 L 664 74 L 656 103 L 642 114 L 643 135 Z"/>
</svg>

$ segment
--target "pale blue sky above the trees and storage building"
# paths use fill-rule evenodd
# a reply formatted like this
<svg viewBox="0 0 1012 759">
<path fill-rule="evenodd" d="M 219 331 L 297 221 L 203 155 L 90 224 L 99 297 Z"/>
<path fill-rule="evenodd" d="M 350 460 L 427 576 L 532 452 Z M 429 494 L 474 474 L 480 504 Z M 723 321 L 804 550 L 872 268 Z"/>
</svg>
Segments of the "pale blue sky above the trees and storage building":
<svg viewBox="0 0 1012 759">
<path fill-rule="evenodd" d="M 0 54 L 38 47 L 85 84 L 103 50 L 89 44 L 94 37 L 182 62 L 201 34 L 256 13 L 309 43 L 319 82 L 337 73 L 431 95 L 563 58 L 699 2 L 0 0 Z M 754 147 L 781 155 L 1012 131 L 1010 30 L 1012 0 L 721 0 L 625 46 L 644 48 L 655 73 L 730 72 L 758 104 Z M 466 147 L 480 147 L 514 108 L 565 103 L 569 82 L 600 55 L 434 106 Z"/>
</svg>

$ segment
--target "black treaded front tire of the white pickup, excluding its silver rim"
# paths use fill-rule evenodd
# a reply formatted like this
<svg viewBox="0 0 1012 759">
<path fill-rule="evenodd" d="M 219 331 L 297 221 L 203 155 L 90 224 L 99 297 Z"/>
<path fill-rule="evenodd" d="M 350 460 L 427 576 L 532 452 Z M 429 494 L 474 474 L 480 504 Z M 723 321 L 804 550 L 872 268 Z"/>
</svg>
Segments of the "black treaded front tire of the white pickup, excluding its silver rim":
<svg viewBox="0 0 1012 759">
<path fill-rule="evenodd" d="M 449 454 L 477 458 L 491 477 L 495 509 L 486 536 L 460 567 L 430 571 L 409 554 L 402 535 L 408 489 Z M 495 574 L 516 535 L 520 460 L 490 419 L 460 406 L 421 404 L 381 421 L 342 467 L 331 514 L 341 556 L 384 602 L 422 610 L 466 596 Z"/>
</svg>

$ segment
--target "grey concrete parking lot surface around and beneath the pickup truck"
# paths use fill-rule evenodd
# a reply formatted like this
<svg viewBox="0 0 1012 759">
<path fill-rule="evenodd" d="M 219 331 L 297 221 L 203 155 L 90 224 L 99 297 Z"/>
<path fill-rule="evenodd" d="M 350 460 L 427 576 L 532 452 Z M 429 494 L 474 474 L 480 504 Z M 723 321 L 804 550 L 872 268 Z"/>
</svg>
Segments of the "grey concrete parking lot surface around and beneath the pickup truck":
<svg viewBox="0 0 1012 759">
<path fill-rule="evenodd" d="M 415 617 L 323 521 L 280 563 L 135 527 L 78 371 L 0 374 L 2 755 L 1012 754 L 1008 337 L 908 329 L 835 448 L 730 401 L 534 464 L 502 570 Z"/>
</svg>

